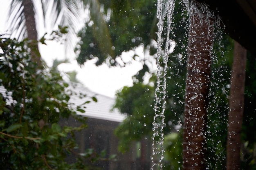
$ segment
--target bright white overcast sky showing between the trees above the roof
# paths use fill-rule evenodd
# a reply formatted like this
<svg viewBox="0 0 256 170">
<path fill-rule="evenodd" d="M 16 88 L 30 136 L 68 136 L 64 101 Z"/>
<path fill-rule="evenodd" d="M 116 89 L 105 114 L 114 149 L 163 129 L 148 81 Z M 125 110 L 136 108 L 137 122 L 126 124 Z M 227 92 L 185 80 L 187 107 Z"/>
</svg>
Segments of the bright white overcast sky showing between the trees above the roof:
<svg viewBox="0 0 256 170">
<path fill-rule="evenodd" d="M 8 13 L 8 0 L 0 0 L 0 34 L 4 33 L 6 15 Z M 40 2 L 40 1 L 39 1 Z M 54 59 L 65 59 L 64 47 L 54 42 L 48 42 L 46 45 L 40 45 L 40 53 L 43 60 L 51 66 Z M 142 52 L 140 48 L 138 51 Z M 143 55 L 143 54 L 142 54 Z M 129 55 L 128 55 L 129 56 Z M 127 57 L 128 57 L 127 56 Z M 84 66 L 77 65 L 74 56 L 69 58 L 70 64 L 62 64 L 59 66 L 63 71 L 77 71 L 77 79 L 88 87 L 90 90 L 102 95 L 114 97 L 115 92 L 123 86 L 132 85 L 132 75 L 135 75 L 142 68 L 139 62 L 134 62 L 130 66 L 124 68 L 109 68 L 106 64 L 95 66 L 94 61 L 89 61 Z"/>
</svg>

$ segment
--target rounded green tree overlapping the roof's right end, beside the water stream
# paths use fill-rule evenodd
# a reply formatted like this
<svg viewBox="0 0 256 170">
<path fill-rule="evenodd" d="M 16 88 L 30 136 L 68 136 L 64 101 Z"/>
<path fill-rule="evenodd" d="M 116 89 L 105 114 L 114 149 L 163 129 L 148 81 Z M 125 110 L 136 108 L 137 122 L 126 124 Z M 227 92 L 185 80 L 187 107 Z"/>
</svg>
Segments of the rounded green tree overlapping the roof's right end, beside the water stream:
<svg viewBox="0 0 256 170">
<path fill-rule="evenodd" d="M 134 84 L 132 87 L 124 87 L 117 93 L 115 108 L 128 117 L 115 129 L 119 137 L 119 151 L 125 152 L 131 141 L 137 141 L 144 135 L 151 133 L 154 112 L 153 87 L 142 83 Z"/>
</svg>

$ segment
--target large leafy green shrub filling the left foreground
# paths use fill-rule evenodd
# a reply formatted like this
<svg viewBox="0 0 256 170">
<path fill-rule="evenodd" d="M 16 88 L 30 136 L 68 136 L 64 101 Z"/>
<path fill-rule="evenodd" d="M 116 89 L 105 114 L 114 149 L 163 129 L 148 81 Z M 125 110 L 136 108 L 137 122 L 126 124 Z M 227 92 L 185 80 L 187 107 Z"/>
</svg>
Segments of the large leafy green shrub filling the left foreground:
<svg viewBox="0 0 256 170">
<path fill-rule="evenodd" d="M 69 102 L 69 85 L 55 67 L 40 70 L 31 62 L 27 41 L 0 37 L 0 47 L 0 86 L 6 89 L 0 94 L 0 169 L 88 169 L 83 160 L 97 160 L 93 152 L 66 161 L 78 147 L 74 132 L 87 126 Z M 69 117 L 81 126 L 61 126 L 60 119 Z"/>
</svg>

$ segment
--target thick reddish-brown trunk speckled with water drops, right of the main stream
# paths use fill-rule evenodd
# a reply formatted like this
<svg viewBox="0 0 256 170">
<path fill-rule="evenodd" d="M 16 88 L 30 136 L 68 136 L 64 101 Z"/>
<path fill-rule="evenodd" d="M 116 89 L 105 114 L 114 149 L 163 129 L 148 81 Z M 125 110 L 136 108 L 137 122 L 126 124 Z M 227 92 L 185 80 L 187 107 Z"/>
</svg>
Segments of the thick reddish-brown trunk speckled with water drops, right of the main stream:
<svg viewBox="0 0 256 170">
<path fill-rule="evenodd" d="M 192 7 L 190 14 L 183 126 L 183 170 L 206 169 L 207 97 L 213 26 L 211 20 L 207 18 L 207 10 L 202 11 Z"/>
</svg>

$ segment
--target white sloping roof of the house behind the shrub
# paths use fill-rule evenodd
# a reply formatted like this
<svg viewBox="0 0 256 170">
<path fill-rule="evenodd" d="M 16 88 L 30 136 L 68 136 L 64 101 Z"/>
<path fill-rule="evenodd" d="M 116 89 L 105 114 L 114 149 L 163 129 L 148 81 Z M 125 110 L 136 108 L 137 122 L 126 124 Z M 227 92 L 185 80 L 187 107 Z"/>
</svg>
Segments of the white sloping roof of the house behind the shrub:
<svg viewBox="0 0 256 170">
<path fill-rule="evenodd" d="M 115 108 L 113 110 L 112 106 L 115 103 L 115 99 L 101 95 L 95 92 L 90 91 L 88 88 L 83 87 L 80 84 L 70 85 L 67 90 L 72 90 L 72 95 L 70 97 L 70 103 L 74 103 L 76 106 L 79 106 L 86 101 L 91 101 L 88 104 L 85 104 L 85 113 L 77 112 L 79 115 L 83 115 L 88 118 L 102 119 L 109 121 L 121 122 L 126 118 L 126 115 L 119 113 Z M 0 93 L 6 97 L 6 89 L 3 86 L 0 86 Z M 80 93 L 86 95 L 81 98 Z M 92 100 L 92 97 L 96 97 L 97 102 Z M 11 101 L 11 99 L 9 99 Z"/>
</svg>

